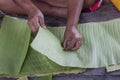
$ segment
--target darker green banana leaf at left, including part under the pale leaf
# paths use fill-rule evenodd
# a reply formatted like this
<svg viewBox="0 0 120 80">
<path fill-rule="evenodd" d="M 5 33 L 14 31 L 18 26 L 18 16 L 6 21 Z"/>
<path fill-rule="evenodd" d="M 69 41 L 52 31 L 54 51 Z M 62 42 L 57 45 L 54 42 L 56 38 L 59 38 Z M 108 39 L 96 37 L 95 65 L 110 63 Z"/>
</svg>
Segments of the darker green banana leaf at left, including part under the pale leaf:
<svg viewBox="0 0 120 80">
<path fill-rule="evenodd" d="M 34 39 L 27 20 L 5 16 L 0 29 L 0 76 L 44 76 L 80 73 L 82 68 L 62 67 L 29 46 Z"/>
</svg>

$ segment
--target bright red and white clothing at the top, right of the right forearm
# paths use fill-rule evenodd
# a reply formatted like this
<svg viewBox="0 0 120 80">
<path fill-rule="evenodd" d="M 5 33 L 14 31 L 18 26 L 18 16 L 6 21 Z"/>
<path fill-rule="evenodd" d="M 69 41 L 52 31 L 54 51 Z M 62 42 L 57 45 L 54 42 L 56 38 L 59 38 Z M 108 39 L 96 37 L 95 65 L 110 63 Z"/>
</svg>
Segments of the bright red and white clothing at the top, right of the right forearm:
<svg viewBox="0 0 120 80">
<path fill-rule="evenodd" d="M 85 9 L 84 11 L 85 12 L 95 11 L 96 9 L 98 9 L 101 6 L 102 2 L 103 2 L 103 0 L 97 0 L 94 5 L 90 6 L 89 8 Z"/>
</svg>

